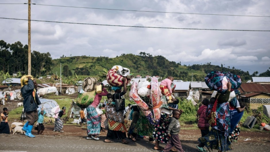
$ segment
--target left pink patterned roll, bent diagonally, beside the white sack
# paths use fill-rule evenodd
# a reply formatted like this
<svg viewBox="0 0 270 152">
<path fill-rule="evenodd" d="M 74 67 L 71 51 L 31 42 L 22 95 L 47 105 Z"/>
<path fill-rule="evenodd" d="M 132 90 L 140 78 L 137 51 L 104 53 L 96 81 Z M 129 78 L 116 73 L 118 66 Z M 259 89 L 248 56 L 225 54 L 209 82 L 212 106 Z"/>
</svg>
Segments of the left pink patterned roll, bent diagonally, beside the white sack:
<svg viewBox="0 0 270 152">
<path fill-rule="evenodd" d="M 138 83 L 136 81 L 134 81 L 131 84 L 129 96 L 134 100 L 135 103 L 137 103 L 137 105 L 142 110 L 148 110 L 149 109 L 148 105 L 138 95 L 137 85 Z"/>
</svg>

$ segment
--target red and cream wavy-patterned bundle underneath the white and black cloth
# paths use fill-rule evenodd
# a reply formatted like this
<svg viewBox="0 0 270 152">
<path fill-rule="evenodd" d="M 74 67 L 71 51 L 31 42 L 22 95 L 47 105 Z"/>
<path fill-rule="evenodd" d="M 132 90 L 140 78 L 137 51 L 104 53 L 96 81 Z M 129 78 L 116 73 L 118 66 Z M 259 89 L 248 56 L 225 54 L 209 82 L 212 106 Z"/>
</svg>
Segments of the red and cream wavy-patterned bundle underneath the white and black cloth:
<svg viewBox="0 0 270 152">
<path fill-rule="evenodd" d="M 117 74 L 116 69 L 111 69 L 108 71 L 106 79 L 111 86 L 124 86 L 122 78 L 123 76 Z M 126 84 L 128 84 L 129 82 L 130 80 L 127 79 Z"/>
</svg>

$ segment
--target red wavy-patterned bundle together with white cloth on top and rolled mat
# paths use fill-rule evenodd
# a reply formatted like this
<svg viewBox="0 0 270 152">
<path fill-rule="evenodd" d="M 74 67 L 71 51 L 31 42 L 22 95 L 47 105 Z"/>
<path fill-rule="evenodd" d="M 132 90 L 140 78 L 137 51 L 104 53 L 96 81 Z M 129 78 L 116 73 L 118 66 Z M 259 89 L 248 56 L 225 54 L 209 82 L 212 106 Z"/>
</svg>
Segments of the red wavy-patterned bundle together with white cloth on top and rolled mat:
<svg viewBox="0 0 270 152">
<path fill-rule="evenodd" d="M 130 70 L 128 68 L 113 66 L 113 68 L 108 71 L 106 79 L 111 86 L 124 86 L 122 81 L 123 77 L 127 78 L 126 84 L 128 84 L 133 78 L 133 75 L 130 75 Z"/>
</svg>

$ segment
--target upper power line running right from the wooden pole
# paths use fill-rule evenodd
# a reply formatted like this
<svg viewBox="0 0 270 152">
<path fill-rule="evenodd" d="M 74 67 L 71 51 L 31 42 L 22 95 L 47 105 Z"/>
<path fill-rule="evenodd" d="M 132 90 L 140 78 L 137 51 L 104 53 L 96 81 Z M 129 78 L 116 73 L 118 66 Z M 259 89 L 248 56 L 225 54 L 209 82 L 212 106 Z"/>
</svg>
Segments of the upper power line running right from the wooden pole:
<svg viewBox="0 0 270 152">
<path fill-rule="evenodd" d="M 63 6 L 63 5 L 45 5 L 45 4 L 35 4 L 43 6 L 55 6 L 55 7 L 72 7 L 72 8 L 87 8 L 87 9 L 105 9 L 105 10 L 115 10 L 115 11 L 138 11 L 129 9 L 108 9 L 108 8 L 95 8 L 95 7 L 76 7 L 76 6 Z M 194 15 L 218 15 L 218 16 L 247 16 L 247 17 L 270 17 L 270 16 L 254 16 L 254 15 L 229 15 L 229 14 L 201 14 L 201 13 L 181 13 L 181 12 L 165 12 L 165 11 L 139 11 L 139 12 L 151 12 L 151 13 L 173 13 L 173 14 L 194 14 Z"/>
</svg>

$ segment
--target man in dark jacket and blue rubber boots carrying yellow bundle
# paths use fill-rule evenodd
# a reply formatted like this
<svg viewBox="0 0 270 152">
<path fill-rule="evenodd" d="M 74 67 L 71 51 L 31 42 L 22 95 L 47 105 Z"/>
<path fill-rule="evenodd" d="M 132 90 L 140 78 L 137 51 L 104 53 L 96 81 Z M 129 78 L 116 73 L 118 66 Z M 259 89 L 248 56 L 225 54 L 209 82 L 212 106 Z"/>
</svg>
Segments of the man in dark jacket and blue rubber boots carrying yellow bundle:
<svg viewBox="0 0 270 152">
<path fill-rule="evenodd" d="M 22 96 L 24 97 L 24 111 L 25 111 L 25 116 L 26 116 L 26 124 L 22 128 L 26 133 L 25 135 L 28 137 L 36 137 L 32 135 L 31 131 L 33 128 L 33 125 L 35 122 L 38 120 L 38 105 L 40 105 L 40 101 L 38 99 L 38 95 L 36 93 L 36 80 L 32 80 L 32 76 L 28 76 L 28 82 L 26 81 L 26 77 L 21 78 L 21 93 Z"/>
</svg>

